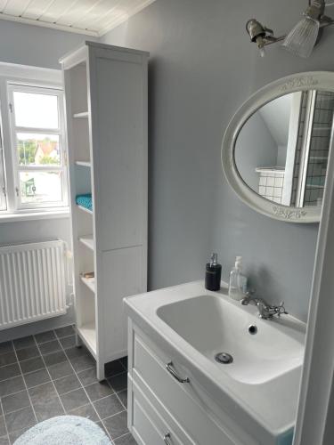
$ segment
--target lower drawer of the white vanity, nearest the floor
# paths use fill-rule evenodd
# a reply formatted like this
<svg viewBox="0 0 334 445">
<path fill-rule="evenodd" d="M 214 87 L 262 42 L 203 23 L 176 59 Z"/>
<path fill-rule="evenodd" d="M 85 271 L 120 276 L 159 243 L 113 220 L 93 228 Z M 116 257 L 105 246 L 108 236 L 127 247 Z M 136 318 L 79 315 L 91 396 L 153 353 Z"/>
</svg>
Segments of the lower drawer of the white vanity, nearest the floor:
<svg viewBox="0 0 334 445">
<path fill-rule="evenodd" d="M 132 433 L 140 445 L 186 445 L 175 433 L 172 425 L 159 415 L 156 407 L 144 396 L 140 388 L 133 384 L 132 393 Z"/>
</svg>

